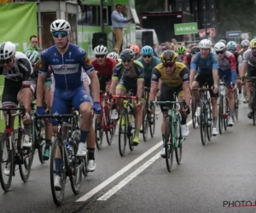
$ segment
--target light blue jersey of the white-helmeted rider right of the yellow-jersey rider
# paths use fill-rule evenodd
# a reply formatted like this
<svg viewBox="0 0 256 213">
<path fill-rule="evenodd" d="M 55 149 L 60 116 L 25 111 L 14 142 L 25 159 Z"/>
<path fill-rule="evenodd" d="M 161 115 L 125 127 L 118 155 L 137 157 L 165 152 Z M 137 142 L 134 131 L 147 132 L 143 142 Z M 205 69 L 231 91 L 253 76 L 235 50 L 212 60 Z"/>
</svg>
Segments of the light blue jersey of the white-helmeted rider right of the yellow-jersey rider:
<svg viewBox="0 0 256 213">
<path fill-rule="evenodd" d="M 209 53 L 206 59 L 201 58 L 201 53 L 193 55 L 190 69 L 196 70 L 201 74 L 212 74 L 212 70 L 218 70 L 218 57 L 212 52 Z"/>
</svg>

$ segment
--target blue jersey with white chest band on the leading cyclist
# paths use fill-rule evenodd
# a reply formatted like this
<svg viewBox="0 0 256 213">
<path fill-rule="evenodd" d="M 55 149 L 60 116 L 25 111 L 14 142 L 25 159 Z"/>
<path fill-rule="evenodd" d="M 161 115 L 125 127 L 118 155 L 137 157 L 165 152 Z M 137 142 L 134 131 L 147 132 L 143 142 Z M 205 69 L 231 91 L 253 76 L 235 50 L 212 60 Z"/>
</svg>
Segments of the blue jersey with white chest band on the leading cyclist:
<svg viewBox="0 0 256 213">
<path fill-rule="evenodd" d="M 55 45 L 44 49 L 39 60 L 39 75 L 47 76 L 49 66 L 54 74 L 55 88 L 61 90 L 77 89 L 83 84 L 82 67 L 88 75 L 95 72 L 85 50 L 73 43 L 68 44 L 67 52 L 63 55 Z"/>
</svg>

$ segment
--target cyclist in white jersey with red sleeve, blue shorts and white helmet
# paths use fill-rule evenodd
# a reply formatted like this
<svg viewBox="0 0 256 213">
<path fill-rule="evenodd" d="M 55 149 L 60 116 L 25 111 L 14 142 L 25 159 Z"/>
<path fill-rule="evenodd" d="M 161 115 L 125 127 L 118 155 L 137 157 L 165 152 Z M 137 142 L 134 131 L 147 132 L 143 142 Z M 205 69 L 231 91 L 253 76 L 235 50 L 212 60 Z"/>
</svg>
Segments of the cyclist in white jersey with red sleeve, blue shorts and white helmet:
<svg viewBox="0 0 256 213">
<path fill-rule="evenodd" d="M 232 83 L 236 82 L 236 58 L 235 55 L 226 51 L 226 45 L 222 42 L 218 42 L 214 46 L 216 55 L 218 55 L 218 76 L 223 78 L 225 76 L 225 84 L 228 89 L 229 97 L 229 108 L 230 108 L 230 118 L 228 125 L 233 126 L 233 116 L 235 112 L 235 100 L 234 91 Z"/>
</svg>

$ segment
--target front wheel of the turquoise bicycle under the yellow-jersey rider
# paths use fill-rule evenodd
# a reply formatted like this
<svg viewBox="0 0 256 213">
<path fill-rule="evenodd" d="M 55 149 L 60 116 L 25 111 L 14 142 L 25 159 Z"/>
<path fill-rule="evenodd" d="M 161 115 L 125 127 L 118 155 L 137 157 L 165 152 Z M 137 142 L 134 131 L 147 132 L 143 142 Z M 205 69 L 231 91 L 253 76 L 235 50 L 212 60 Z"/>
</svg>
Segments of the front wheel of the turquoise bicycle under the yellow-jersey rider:
<svg viewBox="0 0 256 213">
<path fill-rule="evenodd" d="M 173 162 L 173 144 L 172 144 L 172 126 L 171 118 L 166 118 L 166 139 L 165 139 L 165 149 L 166 149 L 166 167 L 169 172 L 172 170 Z"/>
</svg>

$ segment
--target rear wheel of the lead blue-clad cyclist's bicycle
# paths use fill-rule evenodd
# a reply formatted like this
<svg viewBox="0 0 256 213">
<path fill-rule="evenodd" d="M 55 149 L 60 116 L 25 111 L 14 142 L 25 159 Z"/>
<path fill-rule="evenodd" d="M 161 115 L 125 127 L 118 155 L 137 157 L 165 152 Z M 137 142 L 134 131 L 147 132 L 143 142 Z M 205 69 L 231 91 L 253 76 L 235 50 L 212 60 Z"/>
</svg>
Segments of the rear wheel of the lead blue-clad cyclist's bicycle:
<svg viewBox="0 0 256 213">
<path fill-rule="evenodd" d="M 75 195 L 79 194 L 81 189 L 82 181 L 82 170 L 83 170 L 83 158 L 76 157 L 76 153 L 79 149 L 79 140 L 77 138 L 73 139 L 73 158 L 72 158 L 72 168 L 71 174 L 69 175 L 69 180 L 71 183 L 72 191 Z"/>
</svg>

